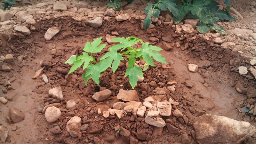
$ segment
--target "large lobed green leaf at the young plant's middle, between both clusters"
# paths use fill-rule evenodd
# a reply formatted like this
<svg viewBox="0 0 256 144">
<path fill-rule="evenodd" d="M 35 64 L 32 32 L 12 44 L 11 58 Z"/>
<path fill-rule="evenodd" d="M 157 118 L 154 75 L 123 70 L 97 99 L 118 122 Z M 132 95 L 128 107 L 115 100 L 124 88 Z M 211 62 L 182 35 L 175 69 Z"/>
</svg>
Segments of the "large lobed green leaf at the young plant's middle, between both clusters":
<svg viewBox="0 0 256 144">
<path fill-rule="evenodd" d="M 120 64 L 120 60 L 124 60 L 124 58 L 121 56 L 119 52 L 116 51 L 116 49 L 111 49 L 110 52 L 107 52 L 103 57 L 100 58 L 100 60 L 106 59 L 109 61 L 110 65 L 112 63 L 112 69 L 115 73 L 116 69 L 118 68 L 118 65 Z"/>
</svg>

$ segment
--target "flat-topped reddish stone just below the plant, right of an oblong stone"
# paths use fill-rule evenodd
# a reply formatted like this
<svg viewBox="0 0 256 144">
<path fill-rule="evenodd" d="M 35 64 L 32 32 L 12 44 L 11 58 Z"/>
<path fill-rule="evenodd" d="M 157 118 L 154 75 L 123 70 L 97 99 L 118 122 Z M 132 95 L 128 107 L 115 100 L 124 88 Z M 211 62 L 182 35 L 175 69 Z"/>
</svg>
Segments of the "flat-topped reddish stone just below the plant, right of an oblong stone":
<svg viewBox="0 0 256 144">
<path fill-rule="evenodd" d="M 123 101 L 139 101 L 138 94 L 135 90 L 125 91 L 120 89 L 117 94 L 117 99 Z"/>
</svg>

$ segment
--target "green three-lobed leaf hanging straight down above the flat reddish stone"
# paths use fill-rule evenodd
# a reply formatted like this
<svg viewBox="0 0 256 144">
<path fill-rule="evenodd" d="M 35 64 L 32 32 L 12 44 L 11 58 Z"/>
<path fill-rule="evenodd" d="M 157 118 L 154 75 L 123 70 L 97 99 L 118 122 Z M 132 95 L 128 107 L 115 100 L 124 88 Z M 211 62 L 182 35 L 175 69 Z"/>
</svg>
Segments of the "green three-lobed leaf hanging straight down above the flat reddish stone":
<svg viewBox="0 0 256 144">
<path fill-rule="evenodd" d="M 129 66 L 126 69 L 124 77 L 125 76 L 129 76 L 129 83 L 131 84 L 132 89 L 134 89 L 134 87 L 136 86 L 136 84 L 138 82 L 138 76 L 143 78 L 142 69 L 137 66 L 135 66 L 135 67 Z"/>
</svg>

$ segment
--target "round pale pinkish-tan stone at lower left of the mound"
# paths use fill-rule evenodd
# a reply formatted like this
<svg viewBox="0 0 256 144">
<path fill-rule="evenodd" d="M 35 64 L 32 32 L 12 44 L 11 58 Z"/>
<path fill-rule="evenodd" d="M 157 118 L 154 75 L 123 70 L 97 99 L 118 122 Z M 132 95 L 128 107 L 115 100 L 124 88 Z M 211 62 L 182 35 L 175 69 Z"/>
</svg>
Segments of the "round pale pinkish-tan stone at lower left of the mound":
<svg viewBox="0 0 256 144">
<path fill-rule="evenodd" d="M 60 118 L 60 109 L 56 107 L 49 107 L 45 111 L 45 118 L 48 123 L 56 122 Z"/>
</svg>

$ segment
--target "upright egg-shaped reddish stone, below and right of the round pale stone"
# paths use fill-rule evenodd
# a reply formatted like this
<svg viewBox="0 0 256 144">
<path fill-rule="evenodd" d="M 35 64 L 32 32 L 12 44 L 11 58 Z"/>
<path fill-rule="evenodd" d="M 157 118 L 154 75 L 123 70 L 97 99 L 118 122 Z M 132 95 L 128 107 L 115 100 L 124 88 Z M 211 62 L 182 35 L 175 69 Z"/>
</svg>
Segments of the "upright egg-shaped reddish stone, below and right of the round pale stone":
<svg viewBox="0 0 256 144">
<path fill-rule="evenodd" d="M 81 131 L 81 118 L 78 116 L 72 117 L 67 123 L 66 130 L 72 137 L 77 137 L 77 134 Z"/>
</svg>

